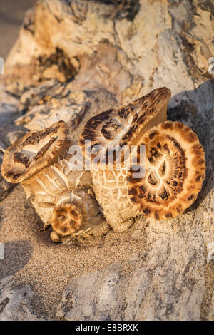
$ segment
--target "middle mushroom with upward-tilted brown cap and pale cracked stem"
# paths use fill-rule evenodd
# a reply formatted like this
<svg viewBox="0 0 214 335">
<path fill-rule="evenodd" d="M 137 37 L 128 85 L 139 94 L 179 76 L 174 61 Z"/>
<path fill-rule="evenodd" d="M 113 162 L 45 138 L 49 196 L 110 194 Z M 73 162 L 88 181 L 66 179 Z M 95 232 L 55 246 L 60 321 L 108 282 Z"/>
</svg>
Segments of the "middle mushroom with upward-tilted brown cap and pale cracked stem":
<svg viewBox="0 0 214 335">
<path fill-rule="evenodd" d="M 170 90 L 158 88 L 133 103 L 94 116 L 83 128 L 80 145 L 85 158 L 88 158 L 88 152 L 91 154 L 93 191 L 106 221 L 115 232 L 123 232 L 130 227 L 133 218 L 141 214 L 141 208 L 128 195 L 126 160 L 122 160 L 119 169 L 108 169 L 108 149 L 114 147 L 118 150 L 123 145 L 137 145 L 148 130 L 167 119 L 169 100 Z M 104 150 L 104 168 L 100 165 L 93 166 L 93 158 L 97 155 L 93 153 L 93 149 L 100 145 Z"/>
</svg>

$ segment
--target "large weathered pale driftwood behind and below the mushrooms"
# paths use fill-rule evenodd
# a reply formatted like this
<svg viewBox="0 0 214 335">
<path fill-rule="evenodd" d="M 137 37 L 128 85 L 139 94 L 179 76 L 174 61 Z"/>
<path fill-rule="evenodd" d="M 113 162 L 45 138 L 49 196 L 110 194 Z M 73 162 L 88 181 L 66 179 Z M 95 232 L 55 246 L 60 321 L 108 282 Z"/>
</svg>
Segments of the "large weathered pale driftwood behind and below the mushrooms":
<svg viewBox="0 0 214 335">
<path fill-rule="evenodd" d="M 211 1 L 200 0 L 40 0 L 26 14 L 6 61 L 6 89 L 21 98 L 14 131 L 60 118 L 78 134 L 91 115 L 167 86 L 168 120 L 197 133 L 207 163 L 203 190 L 183 215 L 136 219 L 130 243 L 145 247 L 130 259 L 132 271 L 112 264 L 73 279 L 59 318 L 214 319 L 213 15 Z"/>
</svg>

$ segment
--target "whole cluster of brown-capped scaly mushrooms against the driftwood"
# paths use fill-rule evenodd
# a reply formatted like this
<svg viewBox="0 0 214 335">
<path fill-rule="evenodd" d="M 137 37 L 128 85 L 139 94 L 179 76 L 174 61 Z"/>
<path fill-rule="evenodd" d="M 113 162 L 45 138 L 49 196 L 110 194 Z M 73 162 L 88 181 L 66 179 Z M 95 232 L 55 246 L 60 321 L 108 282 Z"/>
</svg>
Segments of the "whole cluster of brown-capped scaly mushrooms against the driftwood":
<svg viewBox="0 0 214 335">
<path fill-rule="evenodd" d="M 90 154 L 90 171 L 71 167 L 69 148 L 75 143 L 60 121 L 11 145 L 1 173 L 9 182 L 21 182 L 45 227 L 52 225 L 55 241 L 100 225 L 100 210 L 115 232 L 130 227 L 137 215 L 156 220 L 180 215 L 203 185 L 205 154 L 193 130 L 167 121 L 169 100 L 170 90 L 158 88 L 88 120 L 79 145 L 86 160 Z M 124 146 L 130 148 L 128 160 L 123 152 L 118 166 L 116 153 Z M 143 163 L 141 147 L 146 148 Z M 94 165 L 100 155 L 96 148 L 102 148 L 102 155 Z M 128 164 L 132 148 L 143 171 L 138 177 L 136 167 Z"/>
</svg>

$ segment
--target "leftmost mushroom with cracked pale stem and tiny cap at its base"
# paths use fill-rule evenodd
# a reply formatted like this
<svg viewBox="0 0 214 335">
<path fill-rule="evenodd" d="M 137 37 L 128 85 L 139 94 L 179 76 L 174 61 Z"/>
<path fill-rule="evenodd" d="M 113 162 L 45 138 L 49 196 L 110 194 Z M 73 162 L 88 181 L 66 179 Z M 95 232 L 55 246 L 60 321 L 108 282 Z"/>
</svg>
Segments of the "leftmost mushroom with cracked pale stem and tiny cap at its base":
<svg viewBox="0 0 214 335">
<path fill-rule="evenodd" d="M 8 182 L 21 182 L 44 228 L 52 225 L 55 241 L 103 222 L 92 196 L 90 172 L 71 167 L 69 148 L 74 144 L 66 123 L 58 121 L 16 140 L 6 149 L 1 165 Z"/>
</svg>

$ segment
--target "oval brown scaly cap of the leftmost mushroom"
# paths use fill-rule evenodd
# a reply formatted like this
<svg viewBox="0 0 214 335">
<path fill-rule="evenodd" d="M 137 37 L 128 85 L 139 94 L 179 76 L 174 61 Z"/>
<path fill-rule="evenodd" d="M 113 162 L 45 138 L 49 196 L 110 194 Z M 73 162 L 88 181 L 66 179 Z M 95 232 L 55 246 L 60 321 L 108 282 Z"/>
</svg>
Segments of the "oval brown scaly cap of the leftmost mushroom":
<svg viewBox="0 0 214 335">
<path fill-rule="evenodd" d="M 1 174 L 8 182 L 22 182 L 50 165 L 66 145 L 68 128 L 58 121 L 41 131 L 31 131 L 4 153 Z"/>
</svg>

